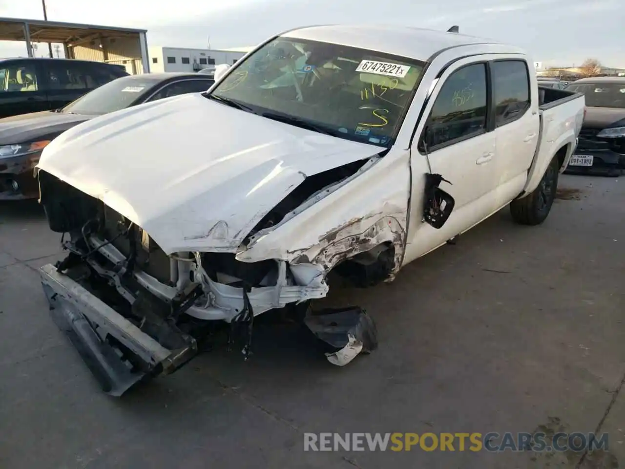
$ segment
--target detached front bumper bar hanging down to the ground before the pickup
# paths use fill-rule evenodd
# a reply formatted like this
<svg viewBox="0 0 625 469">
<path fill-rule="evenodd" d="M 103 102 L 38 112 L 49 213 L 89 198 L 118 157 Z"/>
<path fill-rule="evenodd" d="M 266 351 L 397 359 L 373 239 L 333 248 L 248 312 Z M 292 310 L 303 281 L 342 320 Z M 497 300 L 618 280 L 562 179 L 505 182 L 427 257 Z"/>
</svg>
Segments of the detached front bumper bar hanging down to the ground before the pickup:
<svg viewBox="0 0 625 469">
<path fill-rule="evenodd" d="M 173 373 L 196 355 L 195 341 L 168 350 L 53 265 L 40 273 L 54 322 L 107 394 L 121 396 L 144 378 Z"/>
</svg>

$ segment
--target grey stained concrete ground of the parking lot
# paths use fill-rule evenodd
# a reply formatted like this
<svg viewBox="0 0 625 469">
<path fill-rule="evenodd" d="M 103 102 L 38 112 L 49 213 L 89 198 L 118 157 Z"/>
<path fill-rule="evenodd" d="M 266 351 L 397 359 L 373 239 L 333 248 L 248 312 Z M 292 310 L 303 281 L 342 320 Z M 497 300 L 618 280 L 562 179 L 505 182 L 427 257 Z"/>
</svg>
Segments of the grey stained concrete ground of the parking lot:
<svg viewBox="0 0 625 469">
<path fill-rule="evenodd" d="M 121 399 L 53 325 L 59 236 L 0 204 L 0 468 L 610 468 L 625 465 L 625 177 L 561 176 L 546 223 L 507 209 L 370 290 L 379 349 L 345 368 L 293 325 Z M 608 432 L 594 453 L 306 452 L 304 432 Z"/>
</svg>

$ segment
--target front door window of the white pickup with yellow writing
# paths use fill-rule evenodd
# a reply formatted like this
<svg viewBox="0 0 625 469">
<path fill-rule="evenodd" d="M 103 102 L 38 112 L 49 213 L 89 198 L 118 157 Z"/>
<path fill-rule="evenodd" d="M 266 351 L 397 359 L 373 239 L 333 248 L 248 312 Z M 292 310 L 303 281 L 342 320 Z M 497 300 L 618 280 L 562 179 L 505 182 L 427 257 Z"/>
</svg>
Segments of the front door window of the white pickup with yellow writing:
<svg viewBox="0 0 625 469">
<path fill-rule="evenodd" d="M 486 64 L 457 69 L 446 79 L 427 119 L 427 149 L 486 130 Z"/>
</svg>

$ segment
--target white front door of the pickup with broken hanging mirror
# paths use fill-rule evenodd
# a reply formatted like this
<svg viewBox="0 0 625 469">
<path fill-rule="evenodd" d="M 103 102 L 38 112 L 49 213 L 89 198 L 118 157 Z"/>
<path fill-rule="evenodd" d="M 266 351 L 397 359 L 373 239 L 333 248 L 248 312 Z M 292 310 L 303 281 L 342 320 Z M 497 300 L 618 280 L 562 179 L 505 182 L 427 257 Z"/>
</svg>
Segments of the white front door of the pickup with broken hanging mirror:
<svg viewBox="0 0 625 469">
<path fill-rule="evenodd" d="M 461 59 L 442 73 L 417 124 L 411 148 L 412 196 L 404 263 L 421 256 L 486 218 L 495 191 L 496 137 L 489 124 L 486 58 Z M 440 188 L 455 199 L 442 228 L 422 222 L 424 174 L 451 182 Z"/>
</svg>

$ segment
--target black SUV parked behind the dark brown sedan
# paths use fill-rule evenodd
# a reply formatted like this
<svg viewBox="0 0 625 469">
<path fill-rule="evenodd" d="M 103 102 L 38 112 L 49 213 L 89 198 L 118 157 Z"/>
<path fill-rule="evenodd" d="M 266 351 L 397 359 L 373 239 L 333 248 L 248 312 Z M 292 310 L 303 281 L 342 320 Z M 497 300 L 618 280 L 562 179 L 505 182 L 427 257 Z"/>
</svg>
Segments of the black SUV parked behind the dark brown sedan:
<svg viewBox="0 0 625 469">
<path fill-rule="evenodd" d="M 119 65 L 74 59 L 0 59 L 0 118 L 62 108 L 121 76 Z"/>
</svg>

